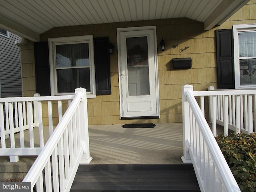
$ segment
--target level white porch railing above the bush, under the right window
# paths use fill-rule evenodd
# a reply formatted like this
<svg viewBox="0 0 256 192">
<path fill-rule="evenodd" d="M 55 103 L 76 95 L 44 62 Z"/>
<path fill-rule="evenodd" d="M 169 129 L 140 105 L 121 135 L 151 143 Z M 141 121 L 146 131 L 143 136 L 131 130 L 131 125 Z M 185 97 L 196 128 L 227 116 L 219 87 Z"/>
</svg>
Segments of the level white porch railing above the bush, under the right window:
<svg viewBox="0 0 256 192">
<path fill-rule="evenodd" d="M 210 122 L 214 136 L 216 136 L 216 124 L 224 126 L 224 135 L 228 135 L 228 129 L 236 134 L 254 132 L 256 90 L 214 90 L 213 86 L 208 90 L 208 92 L 200 92 L 199 95 L 209 96 Z"/>
</svg>

